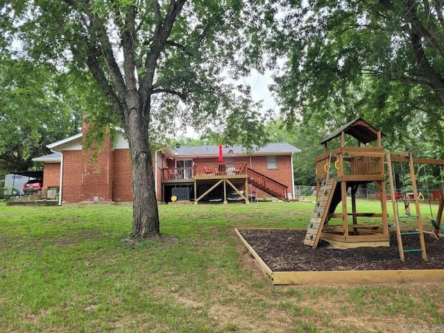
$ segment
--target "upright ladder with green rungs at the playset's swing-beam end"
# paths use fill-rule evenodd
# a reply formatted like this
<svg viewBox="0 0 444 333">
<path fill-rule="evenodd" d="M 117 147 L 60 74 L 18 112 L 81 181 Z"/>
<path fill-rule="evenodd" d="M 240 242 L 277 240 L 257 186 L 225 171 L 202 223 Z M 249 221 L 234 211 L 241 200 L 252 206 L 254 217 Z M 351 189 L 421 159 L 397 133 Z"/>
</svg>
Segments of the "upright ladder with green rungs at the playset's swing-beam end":
<svg viewBox="0 0 444 333">
<path fill-rule="evenodd" d="M 409 169 L 410 169 L 410 179 L 411 179 L 411 187 L 413 188 L 413 200 L 415 201 L 415 208 L 416 208 L 416 214 L 404 214 L 400 215 L 398 213 L 398 203 L 402 202 L 404 203 L 403 208 L 405 204 L 409 201 L 408 198 L 402 198 L 402 199 L 396 199 L 395 198 L 395 182 L 393 180 L 393 169 L 391 165 L 392 156 L 400 156 L 405 158 L 405 162 L 409 163 Z M 424 232 L 422 231 L 422 221 L 421 221 L 421 214 L 420 214 L 420 207 L 419 207 L 419 199 L 418 199 L 418 188 L 416 187 L 416 178 L 415 178 L 415 169 L 413 166 L 413 157 L 411 153 L 401 153 L 401 154 L 386 154 L 386 161 L 387 161 L 387 167 L 388 167 L 388 178 L 390 180 L 390 193 L 391 193 L 391 202 L 393 204 L 393 216 L 395 218 L 395 227 L 396 227 L 396 238 L 398 239 L 398 248 L 400 251 L 400 259 L 404 261 L 404 253 L 411 253 L 411 252 L 421 252 L 422 258 L 424 260 L 427 260 L 427 253 L 425 252 L 425 240 L 424 240 Z M 400 219 L 407 219 L 407 218 L 415 218 L 418 228 L 416 231 L 409 231 L 409 232 L 401 232 L 400 228 Z M 407 236 L 411 237 L 412 235 L 418 235 L 419 236 L 419 242 L 420 242 L 420 248 L 410 248 L 407 250 L 404 250 L 404 246 L 402 245 L 402 237 Z"/>
</svg>

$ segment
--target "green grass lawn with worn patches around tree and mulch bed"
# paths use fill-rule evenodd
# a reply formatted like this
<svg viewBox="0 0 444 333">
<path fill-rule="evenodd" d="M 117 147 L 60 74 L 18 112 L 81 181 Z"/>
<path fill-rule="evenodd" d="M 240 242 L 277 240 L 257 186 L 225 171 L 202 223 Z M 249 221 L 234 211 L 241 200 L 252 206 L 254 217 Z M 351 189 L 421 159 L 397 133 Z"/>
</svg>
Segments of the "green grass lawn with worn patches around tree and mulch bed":
<svg viewBox="0 0 444 333">
<path fill-rule="evenodd" d="M 0 203 L 0 332 L 444 332 L 444 284 L 269 284 L 233 229 L 303 227 L 313 209 L 160 205 L 162 237 L 136 244 L 130 206 Z"/>
</svg>

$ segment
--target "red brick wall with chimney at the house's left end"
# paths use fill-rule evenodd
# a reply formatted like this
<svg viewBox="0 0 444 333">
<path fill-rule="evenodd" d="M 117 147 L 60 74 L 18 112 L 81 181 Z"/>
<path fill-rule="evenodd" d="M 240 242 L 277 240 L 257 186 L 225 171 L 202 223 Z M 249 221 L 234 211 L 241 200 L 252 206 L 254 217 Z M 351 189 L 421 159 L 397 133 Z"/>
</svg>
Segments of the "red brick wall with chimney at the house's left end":
<svg viewBox="0 0 444 333">
<path fill-rule="evenodd" d="M 113 154 L 110 138 L 105 140 L 97 160 L 90 161 L 91 153 L 62 151 L 63 183 L 62 202 L 92 202 L 112 200 Z"/>
</svg>

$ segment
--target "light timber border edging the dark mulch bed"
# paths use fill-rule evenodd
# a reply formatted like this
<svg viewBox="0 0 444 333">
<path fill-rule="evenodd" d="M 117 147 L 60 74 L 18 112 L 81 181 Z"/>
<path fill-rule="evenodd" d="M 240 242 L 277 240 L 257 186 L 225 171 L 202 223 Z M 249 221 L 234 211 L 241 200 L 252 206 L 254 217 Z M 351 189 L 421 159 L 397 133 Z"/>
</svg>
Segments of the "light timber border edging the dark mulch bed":
<svg viewBox="0 0 444 333">
<path fill-rule="evenodd" d="M 444 282 L 444 269 L 399 269 L 381 271 L 298 271 L 273 272 L 256 251 L 242 237 L 243 231 L 289 230 L 305 231 L 306 228 L 234 228 L 239 239 L 256 259 L 273 284 L 359 284 L 393 282 Z"/>
</svg>

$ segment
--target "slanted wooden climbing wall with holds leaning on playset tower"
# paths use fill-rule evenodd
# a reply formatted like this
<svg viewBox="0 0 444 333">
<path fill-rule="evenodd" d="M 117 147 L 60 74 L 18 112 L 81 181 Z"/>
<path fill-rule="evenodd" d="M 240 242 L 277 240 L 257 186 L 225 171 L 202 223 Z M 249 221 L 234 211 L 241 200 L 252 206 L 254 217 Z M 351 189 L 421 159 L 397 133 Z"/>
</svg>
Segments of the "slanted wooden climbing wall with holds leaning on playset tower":
<svg viewBox="0 0 444 333">
<path fill-rule="evenodd" d="M 318 246 L 319 237 L 321 237 L 323 226 L 330 212 L 329 208 L 335 189 L 336 179 L 323 180 L 322 187 L 316 194 L 316 205 L 313 214 L 307 225 L 307 234 L 305 234 L 304 239 L 305 245 L 313 246 L 314 248 Z"/>
</svg>

